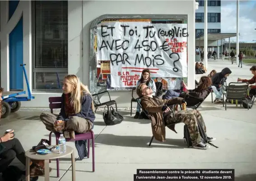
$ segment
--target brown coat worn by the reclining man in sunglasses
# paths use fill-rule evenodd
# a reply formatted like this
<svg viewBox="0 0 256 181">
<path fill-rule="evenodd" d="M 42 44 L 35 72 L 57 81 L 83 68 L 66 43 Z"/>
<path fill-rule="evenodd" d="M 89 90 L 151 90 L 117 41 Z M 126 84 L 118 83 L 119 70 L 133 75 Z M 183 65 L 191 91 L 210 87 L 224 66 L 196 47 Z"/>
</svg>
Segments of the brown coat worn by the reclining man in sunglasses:
<svg viewBox="0 0 256 181">
<path fill-rule="evenodd" d="M 162 100 L 155 96 L 154 98 L 148 96 L 141 97 L 142 108 L 149 113 L 149 119 L 152 121 L 152 133 L 156 140 L 164 142 L 165 141 L 165 124 L 163 122 L 163 111 L 164 105 L 173 105 L 181 103 L 183 98 L 177 97 L 171 100 Z M 170 129 L 175 131 L 175 125 Z"/>
</svg>

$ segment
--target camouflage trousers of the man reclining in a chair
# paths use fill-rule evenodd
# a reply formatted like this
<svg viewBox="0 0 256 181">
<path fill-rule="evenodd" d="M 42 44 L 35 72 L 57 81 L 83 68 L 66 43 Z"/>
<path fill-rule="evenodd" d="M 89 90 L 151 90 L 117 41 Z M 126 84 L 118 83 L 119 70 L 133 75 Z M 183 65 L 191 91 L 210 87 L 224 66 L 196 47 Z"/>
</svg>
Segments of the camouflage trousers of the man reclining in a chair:
<svg viewBox="0 0 256 181">
<path fill-rule="evenodd" d="M 204 127 L 205 133 L 206 133 L 206 127 L 204 119 L 201 115 L 201 113 L 197 110 L 182 110 L 177 113 L 175 113 L 175 118 L 170 114 L 170 116 L 167 116 L 165 119 L 166 125 L 172 124 L 172 123 L 178 123 L 178 122 L 184 122 L 189 130 L 192 145 L 197 145 L 201 141 L 201 136 L 197 124 L 197 119 L 202 123 L 202 126 Z"/>
</svg>

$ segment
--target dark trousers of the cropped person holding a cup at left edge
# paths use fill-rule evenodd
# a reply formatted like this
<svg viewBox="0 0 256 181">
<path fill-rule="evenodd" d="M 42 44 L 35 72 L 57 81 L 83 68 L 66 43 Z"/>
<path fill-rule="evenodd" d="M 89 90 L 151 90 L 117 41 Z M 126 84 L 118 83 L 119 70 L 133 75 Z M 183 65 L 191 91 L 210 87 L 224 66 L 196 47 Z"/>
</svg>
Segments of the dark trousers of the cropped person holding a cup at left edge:
<svg viewBox="0 0 256 181">
<path fill-rule="evenodd" d="M 17 157 L 23 165 L 26 165 L 25 151 L 17 138 L 0 144 L 5 146 L 5 149 L 0 154 L 0 172 L 3 172 L 15 157 Z"/>
</svg>

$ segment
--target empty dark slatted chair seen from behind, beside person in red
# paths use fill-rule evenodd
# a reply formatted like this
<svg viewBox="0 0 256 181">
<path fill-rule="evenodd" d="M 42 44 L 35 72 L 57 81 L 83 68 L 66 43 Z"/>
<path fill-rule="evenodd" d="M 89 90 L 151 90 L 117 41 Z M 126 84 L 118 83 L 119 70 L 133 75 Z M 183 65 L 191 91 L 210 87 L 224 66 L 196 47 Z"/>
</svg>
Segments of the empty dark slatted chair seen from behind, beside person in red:
<svg viewBox="0 0 256 181">
<path fill-rule="evenodd" d="M 240 107 L 242 107 L 242 100 L 247 100 L 247 92 L 248 92 L 249 84 L 248 82 L 230 82 L 228 84 L 227 95 L 224 101 L 223 94 L 223 107 L 225 102 L 225 110 L 227 110 L 227 100 L 240 100 Z M 247 108 L 249 110 L 249 107 Z"/>
</svg>

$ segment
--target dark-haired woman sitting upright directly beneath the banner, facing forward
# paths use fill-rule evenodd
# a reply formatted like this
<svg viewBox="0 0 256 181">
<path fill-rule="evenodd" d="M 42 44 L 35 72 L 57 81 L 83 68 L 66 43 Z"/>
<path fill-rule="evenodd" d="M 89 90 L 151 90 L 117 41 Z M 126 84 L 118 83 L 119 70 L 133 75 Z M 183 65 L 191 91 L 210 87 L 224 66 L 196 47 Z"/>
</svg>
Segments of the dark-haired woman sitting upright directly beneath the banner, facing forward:
<svg viewBox="0 0 256 181">
<path fill-rule="evenodd" d="M 145 84 L 149 87 L 149 89 L 152 89 L 152 90 L 153 90 L 153 95 L 156 94 L 156 85 L 155 85 L 155 82 L 154 82 L 153 79 L 151 79 L 151 77 L 150 77 L 150 71 L 149 71 L 149 69 L 147 69 L 147 68 L 142 71 L 142 73 L 141 73 L 141 78 L 140 78 L 139 81 L 137 81 L 137 86 L 139 86 L 139 85 L 142 84 L 142 83 L 145 83 Z M 136 87 L 137 87 L 137 86 L 136 86 Z M 138 118 L 139 118 L 139 119 L 143 119 L 143 114 L 140 113 L 140 111 L 141 111 L 140 105 L 137 104 L 137 110 L 136 110 L 136 114 L 135 114 L 135 116 L 134 116 L 135 119 L 138 119 Z"/>
</svg>

